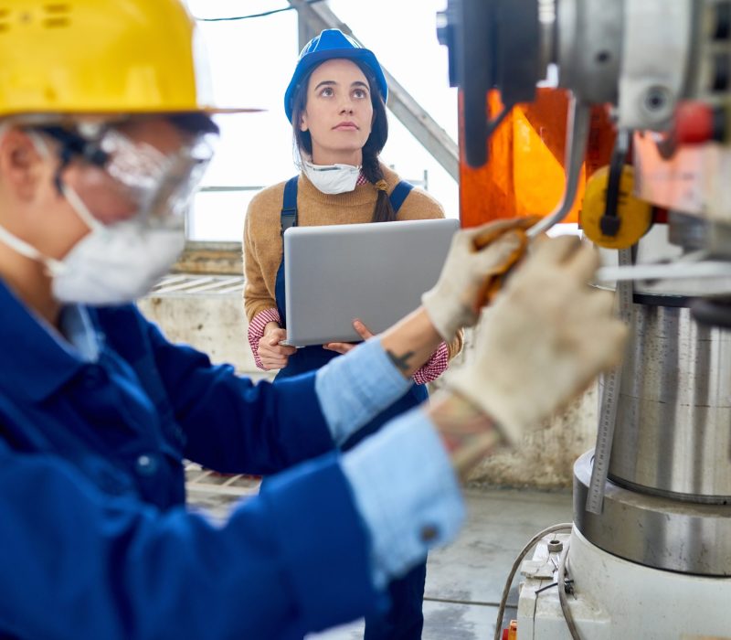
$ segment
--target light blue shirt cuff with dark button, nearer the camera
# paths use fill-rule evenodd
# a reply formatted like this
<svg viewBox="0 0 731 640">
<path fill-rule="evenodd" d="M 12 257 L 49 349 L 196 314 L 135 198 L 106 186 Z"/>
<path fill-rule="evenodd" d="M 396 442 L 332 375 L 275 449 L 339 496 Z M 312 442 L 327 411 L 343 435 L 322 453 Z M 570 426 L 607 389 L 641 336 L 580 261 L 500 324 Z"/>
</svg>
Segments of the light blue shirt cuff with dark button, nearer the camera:
<svg viewBox="0 0 731 640">
<path fill-rule="evenodd" d="M 465 517 L 460 486 L 423 411 L 388 422 L 344 453 L 341 464 L 371 537 L 377 588 L 457 536 Z"/>
</svg>

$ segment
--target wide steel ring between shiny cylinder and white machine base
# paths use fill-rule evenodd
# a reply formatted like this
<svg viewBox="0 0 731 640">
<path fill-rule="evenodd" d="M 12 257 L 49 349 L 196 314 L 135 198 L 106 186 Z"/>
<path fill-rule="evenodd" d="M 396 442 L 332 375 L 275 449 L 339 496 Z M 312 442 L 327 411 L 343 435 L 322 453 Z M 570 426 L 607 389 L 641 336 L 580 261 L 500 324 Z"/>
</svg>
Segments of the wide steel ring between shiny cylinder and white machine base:
<svg viewBox="0 0 731 640">
<path fill-rule="evenodd" d="M 585 509 L 592 453 L 574 465 L 574 522 L 590 542 L 656 569 L 731 576 L 731 505 L 647 496 L 608 482 L 596 516 Z"/>
</svg>

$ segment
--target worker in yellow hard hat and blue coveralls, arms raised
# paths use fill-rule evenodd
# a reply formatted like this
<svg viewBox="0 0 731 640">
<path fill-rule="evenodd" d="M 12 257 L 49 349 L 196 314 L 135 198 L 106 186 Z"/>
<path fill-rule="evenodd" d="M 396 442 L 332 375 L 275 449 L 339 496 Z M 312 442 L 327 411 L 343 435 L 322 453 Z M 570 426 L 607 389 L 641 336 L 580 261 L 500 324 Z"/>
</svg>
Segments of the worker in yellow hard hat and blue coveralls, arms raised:
<svg viewBox="0 0 731 640">
<path fill-rule="evenodd" d="M 585 286 L 593 252 L 537 245 L 449 390 L 337 453 L 476 321 L 516 234 L 475 251 L 460 232 L 414 314 L 316 373 L 253 385 L 129 304 L 175 261 L 216 132 L 185 9 L 4 8 L 0 636 L 276 640 L 385 609 L 388 582 L 457 534 L 459 475 L 620 351 L 611 296 Z M 185 510 L 184 458 L 281 473 L 214 526 Z"/>
</svg>

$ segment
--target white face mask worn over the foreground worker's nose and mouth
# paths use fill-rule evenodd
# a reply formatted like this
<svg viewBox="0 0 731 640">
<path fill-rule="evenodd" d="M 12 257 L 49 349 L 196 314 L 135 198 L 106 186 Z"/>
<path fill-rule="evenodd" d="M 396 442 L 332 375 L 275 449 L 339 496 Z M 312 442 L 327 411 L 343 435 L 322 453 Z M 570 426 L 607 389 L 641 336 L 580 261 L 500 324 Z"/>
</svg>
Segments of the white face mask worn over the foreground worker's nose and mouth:
<svg viewBox="0 0 731 640">
<path fill-rule="evenodd" d="M 104 226 L 73 189 L 64 187 L 63 193 L 91 230 L 62 260 L 42 255 L 0 227 L 0 241 L 46 265 L 51 275 L 51 293 L 60 303 L 131 303 L 148 293 L 183 251 L 182 219 L 177 228 L 150 228 L 140 219 Z"/>
</svg>

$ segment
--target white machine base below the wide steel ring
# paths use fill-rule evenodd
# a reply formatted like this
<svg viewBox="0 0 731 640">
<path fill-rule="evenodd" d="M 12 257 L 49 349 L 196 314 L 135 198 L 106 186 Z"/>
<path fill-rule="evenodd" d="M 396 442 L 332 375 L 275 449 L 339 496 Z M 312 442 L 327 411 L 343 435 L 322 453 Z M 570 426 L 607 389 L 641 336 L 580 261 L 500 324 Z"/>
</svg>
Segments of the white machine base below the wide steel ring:
<svg viewBox="0 0 731 640">
<path fill-rule="evenodd" d="M 567 595 L 568 607 L 582 640 L 731 640 L 731 578 L 622 560 L 588 542 L 576 527 L 556 539 L 569 542 L 574 593 Z M 559 556 L 542 541 L 523 564 L 518 640 L 570 638 L 558 588 L 549 586 L 556 582 Z"/>
</svg>

